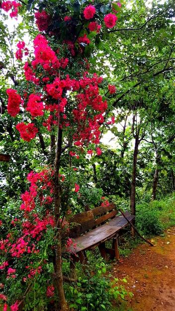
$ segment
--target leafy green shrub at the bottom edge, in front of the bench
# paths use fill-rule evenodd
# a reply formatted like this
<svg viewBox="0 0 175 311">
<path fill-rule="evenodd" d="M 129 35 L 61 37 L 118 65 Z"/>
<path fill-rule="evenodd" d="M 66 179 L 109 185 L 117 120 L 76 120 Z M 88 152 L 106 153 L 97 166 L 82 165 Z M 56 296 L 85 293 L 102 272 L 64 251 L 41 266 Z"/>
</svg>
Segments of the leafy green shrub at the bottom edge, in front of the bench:
<svg viewBox="0 0 175 311">
<path fill-rule="evenodd" d="M 87 266 L 87 275 L 78 277 L 75 284 L 66 285 L 65 294 L 69 302 L 70 309 L 78 311 L 111 311 L 111 300 L 118 297 L 124 298 L 127 292 L 123 286 L 117 286 L 118 279 L 113 282 L 106 274 L 106 265 L 104 262 L 95 265 L 95 274 L 92 276 L 90 271 L 94 267 Z M 126 283 L 126 279 L 123 279 Z M 115 286 L 114 286 L 115 285 Z M 114 287 L 113 287 L 114 286 Z"/>
</svg>

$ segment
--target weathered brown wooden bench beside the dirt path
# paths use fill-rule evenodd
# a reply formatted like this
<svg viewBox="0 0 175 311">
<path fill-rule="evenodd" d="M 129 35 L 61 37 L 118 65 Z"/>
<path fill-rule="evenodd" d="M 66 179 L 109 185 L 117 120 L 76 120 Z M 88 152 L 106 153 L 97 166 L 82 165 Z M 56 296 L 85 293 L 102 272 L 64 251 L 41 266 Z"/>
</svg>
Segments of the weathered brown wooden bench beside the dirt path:
<svg viewBox="0 0 175 311">
<path fill-rule="evenodd" d="M 124 213 L 127 219 L 132 223 L 135 219 L 130 212 Z M 70 229 L 69 236 L 77 243 L 76 249 L 72 246 L 71 270 L 72 276 L 75 276 L 76 261 L 81 261 L 84 271 L 87 265 L 87 250 L 93 250 L 98 246 L 101 256 L 107 260 L 107 254 L 110 258 L 119 259 L 118 237 L 122 234 L 123 228 L 129 223 L 121 213 L 118 215 L 116 205 L 95 207 L 87 212 L 79 213 L 69 220 L 73 227 Z M 133 234 L 133 232 L 132 232 Z M 106 248 L 105 241 L 112 240 L 112 247 Z"/>
</svg>

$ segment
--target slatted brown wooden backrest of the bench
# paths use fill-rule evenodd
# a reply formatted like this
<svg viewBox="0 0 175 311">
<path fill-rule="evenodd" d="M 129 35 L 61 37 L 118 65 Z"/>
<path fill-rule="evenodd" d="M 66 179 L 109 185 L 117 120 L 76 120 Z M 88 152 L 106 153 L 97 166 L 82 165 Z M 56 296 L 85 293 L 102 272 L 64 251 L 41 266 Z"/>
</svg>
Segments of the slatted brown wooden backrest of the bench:
<svg viewBox="0 0 175 311">
<path fill-rule="evenodd" d="M 117 214 L 118 211 L 114 203 L 98 206 L 87 212 L 76 214 L 69 220 L 69 223 L 73 224 L 69 236 L 80 236 L 81 234 L 104 224 L 107 220 L 114 218 Z"/>
</svg>

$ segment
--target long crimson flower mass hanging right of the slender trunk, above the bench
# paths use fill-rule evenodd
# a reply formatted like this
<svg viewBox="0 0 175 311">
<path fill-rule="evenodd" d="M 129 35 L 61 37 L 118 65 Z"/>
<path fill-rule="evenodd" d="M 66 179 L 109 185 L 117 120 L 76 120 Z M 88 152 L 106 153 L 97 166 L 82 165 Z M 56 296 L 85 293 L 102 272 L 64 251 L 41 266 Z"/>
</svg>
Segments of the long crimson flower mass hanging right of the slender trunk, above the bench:
<svg viewBox="0 0 175 311">
<path fill-rule="evenodd" d="M 98 84 L 101 81 L 102 78 L 96 74 L 93 74 L 93 78 L 84 75 L 84 79 L 79 81 L 83 92 L 76 96 L 78 106 L 73 110 L 74 122 L 78 125 L 78 132 L 74 134 L 77 146 L 82 147 L 85 142 L 99 143 L 99 127 L 104 122 L 103 113 L 107 109 L 107 102 L 102 101 L 99 95 Z"/>
</svg>

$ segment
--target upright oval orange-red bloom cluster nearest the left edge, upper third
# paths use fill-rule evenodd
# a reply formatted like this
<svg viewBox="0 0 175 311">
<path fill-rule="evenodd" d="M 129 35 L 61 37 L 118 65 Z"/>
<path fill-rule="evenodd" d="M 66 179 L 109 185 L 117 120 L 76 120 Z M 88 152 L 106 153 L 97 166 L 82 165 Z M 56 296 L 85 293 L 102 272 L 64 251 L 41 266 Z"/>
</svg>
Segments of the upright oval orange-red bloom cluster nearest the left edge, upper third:
<svg viewBox="0 0 175 311">
<path fill-rule="evenodd" d="M 17 94 L 17 91 L 12 88 L 8 88 L 6 93 L 8 94 L 7 111 L 12 117 L 15 117 L 20 111 L 19 105 L 21 103 L 21 97 Z"/>
</svg>

